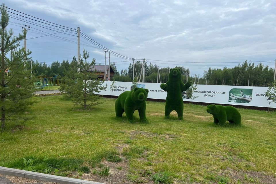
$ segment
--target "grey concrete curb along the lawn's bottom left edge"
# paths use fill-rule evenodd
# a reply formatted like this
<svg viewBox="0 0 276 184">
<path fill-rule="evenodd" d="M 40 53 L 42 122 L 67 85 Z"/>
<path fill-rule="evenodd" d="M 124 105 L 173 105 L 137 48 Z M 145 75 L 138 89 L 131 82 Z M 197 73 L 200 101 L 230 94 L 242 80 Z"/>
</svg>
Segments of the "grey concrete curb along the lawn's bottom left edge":
<svg viewBox="0 0 276 184">
<path fill-rule="evenodd" d="M 48 175 L 43 173 L 36 173 L 32 171 L 13 169 L 13 168 L 1 167 L 1 166 L 0 166 L 0 174 L 18 176 L 18 177 L 36 179 L 36 180 L 42 180 L 42 181 L 48 181 L 48 182 L 55 182 L 55 183 L 61 183 L 61 184 L 104 184 L 104 183 L 98 183 L 94 181 L 87 181 L 83 179 Z"/>
</svg>

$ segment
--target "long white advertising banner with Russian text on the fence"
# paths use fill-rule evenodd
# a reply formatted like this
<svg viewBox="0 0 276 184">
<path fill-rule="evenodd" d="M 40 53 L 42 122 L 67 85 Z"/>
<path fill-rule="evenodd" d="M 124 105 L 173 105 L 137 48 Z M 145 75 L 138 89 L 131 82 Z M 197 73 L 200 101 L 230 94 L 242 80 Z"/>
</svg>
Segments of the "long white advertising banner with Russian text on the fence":
<svg viewBox="0 0 276 184">
<path fill-rule="evenodd" d="M 111 83 L 111 81 L 105 81 L 106 90 L 98 94 L 119 96 L 124 91 L 133 89 L 131 82 L 115 82 L 114 91 L 112 91 Z M 160 88 L 160 83 L 138 83 L 137 87 L 148 89 L 148 98 L 166 99 L 167 97 L 167 92 Z M 267 90 L 268 87 L 197 85 L 197 89 L 193 93 L 193 96 L 197 98 L 189 98 L 187 91 L 182 93 L 182 97 L 183 101 L 191 102 L 268 107 L 269 98 L 264 94 Z M 270 107 L 276 108 L 276 103 L 271 102 Z"/>
</svg>

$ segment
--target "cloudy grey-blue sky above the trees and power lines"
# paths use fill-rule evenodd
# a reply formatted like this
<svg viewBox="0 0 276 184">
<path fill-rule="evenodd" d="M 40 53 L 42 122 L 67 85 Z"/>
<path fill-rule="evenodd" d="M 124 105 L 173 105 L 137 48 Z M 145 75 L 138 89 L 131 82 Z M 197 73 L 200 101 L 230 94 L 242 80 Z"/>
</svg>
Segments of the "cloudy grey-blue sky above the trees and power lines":
<svg viewBox="0 0 276 184">
<path fill-rule="evenodd" d="M 209 67 L 232 68 L 245 60 L 258 64 L 258 61 L 276 58 L 275 0 L 9 0 L 4 3 L 11 9 L 55 24 L 80 27 L 82 33 L 121 55 L 145 58 L 160 67 L 184 66 L 191 74 L 202 76 Z M 10 18 L 8 26 L 14 33 L 25 24 L 30 26 L 27 48 L 32 51 L 33 60 L 50 64 L 57 60 L 71 61 L 77 55 L 76 32 L 40 37 L 56 32 L 15 18 L 30 19 L 9 14 L 15 16 Z M 95 48 L 83 36 L 81 44 L 81 50 L 87 49 L 91 59 L 104 63 L 102 49 Z M 111 62 L 120 62 L 116 63 L 119 70 L 128 68 L 130 62 L 121 62 L 126 60 L 111 55 Z M 262 63 L 274 68 L 273 62 Z"/>
</svg>

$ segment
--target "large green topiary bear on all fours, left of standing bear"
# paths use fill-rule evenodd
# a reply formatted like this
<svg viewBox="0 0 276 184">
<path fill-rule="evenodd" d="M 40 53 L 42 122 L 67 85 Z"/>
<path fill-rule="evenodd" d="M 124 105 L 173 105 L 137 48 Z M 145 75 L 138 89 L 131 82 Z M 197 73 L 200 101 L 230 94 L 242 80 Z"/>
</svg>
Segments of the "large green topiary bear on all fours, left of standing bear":
<svg viewBox="0 0 276 184">
<path fill-rule="evenodd" d="M 133 113 L 138 110 L 140 121 L 147 122 L 146 99 L 148 93 L 148 89 L 135 87 L 131 91 L 120 94 L 115 102 L 116 117 L 122 117 L 123 112 L 125 112 L 127 121 L 133 123 Z"/>
</svg>

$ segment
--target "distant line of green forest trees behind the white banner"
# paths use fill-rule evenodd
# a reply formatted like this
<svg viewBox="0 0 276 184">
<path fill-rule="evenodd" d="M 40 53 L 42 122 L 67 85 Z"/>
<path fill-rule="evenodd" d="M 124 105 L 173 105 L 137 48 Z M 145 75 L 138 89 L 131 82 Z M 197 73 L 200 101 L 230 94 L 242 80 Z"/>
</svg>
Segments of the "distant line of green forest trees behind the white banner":
<svg viewBox="0 0 276 184">
<path fill-rule="evenodd" d="M 30 61 L 28 60 L 27 67 L 30 68 Z M 32 73 L 36 76 L 55 76 L 60 78 L 62 82 L 62 77 L 65 74 L 65 71 L 68 71 L 70 67 L 76 65 L 76 61 L 72 60 L 63 60 L 61 63 L 55 61 L 48 66 L 45 62 L 41 63 L 38 61 L 32 61 Z M 141 68 L 143 61 L 135 61 L 135 68 L 139 76 L 141 73 Z M 133 64 L 130 63 L 127 69 L 118 71 L 116 64 L 111 64 L 112 69 L 114 70 L 114 78 L 111 80 L 114 81 L 125 81 L 131 82 L 133 78 Z M 274 69 L 265 66 L 264 64 L 255 64 L 251 61 L 245 61 L 233 68 L 224 67 L 220 68 L 209 68 L 204 71 L 204 76 L 198 77 L 195 74 L 191 75 L 191 72 L 188 68 L 183 66 L 175 66 L 181 70 L 183 75 L 182 80 L 185 83 L 186 73 L 188 74 L 188 80 L 196 84 L 208 84 L 208 85 L 233 85 L 233 86 L 264 86 L 267 87 L 268 84 L 273 83 L 274 80 Z M 168 74 L 170 67 L 159 68 L 160 70 L 160 79 L 161 83 L 166 83 L 168 81 Z M 153 64 L 148 64 L 145 62 L 145 82 L 147 83 L 156 83 L 157 82 L 157 71 L 158 66 Z M 135 72 L 134 72 L 135 73 Z M 135 75 L 135 77 L 137 77 Z"/>
</svg>

